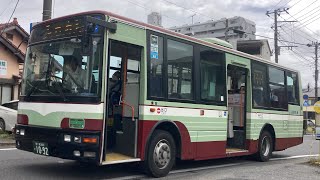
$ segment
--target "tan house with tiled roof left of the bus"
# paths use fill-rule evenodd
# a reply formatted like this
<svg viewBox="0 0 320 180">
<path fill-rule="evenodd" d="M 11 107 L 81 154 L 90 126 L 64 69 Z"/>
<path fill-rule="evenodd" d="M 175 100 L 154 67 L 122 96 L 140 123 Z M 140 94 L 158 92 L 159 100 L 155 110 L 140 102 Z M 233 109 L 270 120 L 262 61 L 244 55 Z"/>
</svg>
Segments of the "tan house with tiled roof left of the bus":
<svg viewBox="0 0 320 180">
<path fill-rule="evenodd" d="M 19 98 L 28 39 L 17 18 L 0 24 L 0 104 Z"/>
</svg>

